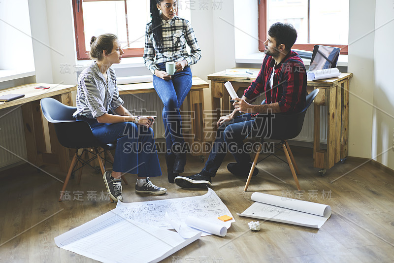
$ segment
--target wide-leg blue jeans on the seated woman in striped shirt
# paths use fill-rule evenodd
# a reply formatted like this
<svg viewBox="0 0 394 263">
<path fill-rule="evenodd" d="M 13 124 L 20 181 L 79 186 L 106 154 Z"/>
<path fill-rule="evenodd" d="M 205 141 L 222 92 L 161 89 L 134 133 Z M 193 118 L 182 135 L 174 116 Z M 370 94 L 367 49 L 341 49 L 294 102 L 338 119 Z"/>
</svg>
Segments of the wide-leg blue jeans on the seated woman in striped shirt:
<svg viewBox="0 0 394 263">
<path fill-rule="evenodd" d="M 153 130 L 132 122 L 98 123 L 96 119 L 78 118 L 90 124 L 100 143 L 116 142 L 113 171 L 138 174 L 139 177 L 162 175 Z"/>
</svg>

